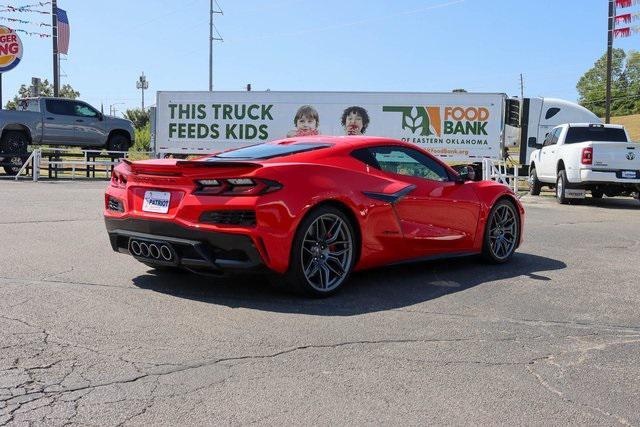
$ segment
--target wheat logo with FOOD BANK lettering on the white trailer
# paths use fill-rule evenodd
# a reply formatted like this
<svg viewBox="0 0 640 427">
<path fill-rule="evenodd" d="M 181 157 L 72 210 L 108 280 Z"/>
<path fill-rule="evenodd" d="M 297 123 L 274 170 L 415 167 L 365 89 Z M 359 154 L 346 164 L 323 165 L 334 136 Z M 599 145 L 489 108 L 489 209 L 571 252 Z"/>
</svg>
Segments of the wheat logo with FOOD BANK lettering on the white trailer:
<svg viewBox="0 0 640 427">
<path fill-rule="evenodd" d="M 383 112 L 402 113 L 402 129 L 414 135 L 487 135 L 489 110 L 485 107 L 383 106 Z M 442 114 L 444 113 L 444 114 Z"/>
</svg>

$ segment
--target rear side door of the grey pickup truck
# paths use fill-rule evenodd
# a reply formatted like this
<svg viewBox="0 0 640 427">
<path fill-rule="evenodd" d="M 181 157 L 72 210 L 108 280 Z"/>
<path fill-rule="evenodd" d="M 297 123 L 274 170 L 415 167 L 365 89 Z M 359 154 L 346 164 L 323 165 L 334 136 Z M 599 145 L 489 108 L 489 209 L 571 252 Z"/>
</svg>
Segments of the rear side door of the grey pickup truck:
<svg viewBox="0 0 640 427">
<path fill-rule="evenodd" d="M 45 99 L 43 115 L 43 144 L 75 144 L 75 115 L 68 101 Z"/>
</svg>

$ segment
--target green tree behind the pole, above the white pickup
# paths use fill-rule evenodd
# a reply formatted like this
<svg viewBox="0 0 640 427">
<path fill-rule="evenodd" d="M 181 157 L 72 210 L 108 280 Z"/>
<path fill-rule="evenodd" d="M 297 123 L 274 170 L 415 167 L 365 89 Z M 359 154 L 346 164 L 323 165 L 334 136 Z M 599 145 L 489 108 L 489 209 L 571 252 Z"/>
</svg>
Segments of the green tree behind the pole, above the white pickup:
<svg viewBox="0 0 640 427">
<path fill-rule="evenodd" d="M 578 81 L 579 102 L 603 117 L 607 85 L 607 56 L 602 55 Z M 613 49 L 611 62 L 611 115 L 640 113 L 640 53 Z"/>
</svg>

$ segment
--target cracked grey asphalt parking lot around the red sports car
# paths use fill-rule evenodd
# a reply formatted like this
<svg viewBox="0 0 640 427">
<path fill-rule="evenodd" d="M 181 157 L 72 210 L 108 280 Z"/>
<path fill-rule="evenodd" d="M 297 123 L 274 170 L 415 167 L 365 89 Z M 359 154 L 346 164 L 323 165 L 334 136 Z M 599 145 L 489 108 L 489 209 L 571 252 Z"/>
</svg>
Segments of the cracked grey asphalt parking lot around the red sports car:
<svg viewBox="0 0 640 427">
<path fill-rule="evenodd" d="M 105 185 L 0 182 L 0 424 L 640 424 L 635 200 L 305 300 L 112 252 Z"/>
</svg>

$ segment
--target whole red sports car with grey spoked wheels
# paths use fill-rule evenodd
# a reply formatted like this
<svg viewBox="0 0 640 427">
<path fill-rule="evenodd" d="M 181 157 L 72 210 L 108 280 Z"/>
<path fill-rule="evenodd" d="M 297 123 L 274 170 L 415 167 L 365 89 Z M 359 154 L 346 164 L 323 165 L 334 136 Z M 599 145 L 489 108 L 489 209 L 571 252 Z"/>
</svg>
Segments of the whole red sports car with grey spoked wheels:
<svg viewBox="0 0 640 427">
<path fill-rule="evenodd" d="M 373 137 L 290 138 L 195 160 L 124 161 L 105 195 L 115 251 L 155 268 L 260 270 L 316 296 L 354 270 L 441 256 L 507 261 L 524 209 L 426 151 Z"/>
</svg>

